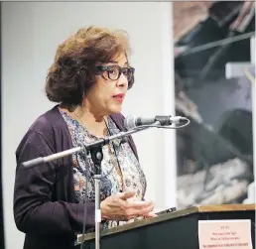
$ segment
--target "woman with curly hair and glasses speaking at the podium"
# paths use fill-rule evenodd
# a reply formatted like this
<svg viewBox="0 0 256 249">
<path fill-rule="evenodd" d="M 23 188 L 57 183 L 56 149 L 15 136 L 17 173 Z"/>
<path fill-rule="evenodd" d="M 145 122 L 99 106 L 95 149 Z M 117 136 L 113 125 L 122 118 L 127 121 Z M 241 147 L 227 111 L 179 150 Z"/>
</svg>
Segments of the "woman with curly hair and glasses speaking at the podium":
<svg viewBox="0 0 256 249">
<path fill-rule="evenodd" d="M 31 169 L 21 163 L 125 130 L 120 111 L 134 83 L 128 55 L 126 36 L 94 27 L 79 30 L 59 47 L 46 84 L 48 98 L 58 104 L 34 122 L 16 152 L 14 217 L 26 233 L 24 249 L 73 248 L 84 204 L 86 225 L 93 228 L 92 161 L 86 170 L 80 152 Z M 132 138 L 104 146 L 103 156 L 103 227 L 155 216 L 153 202 L 143 201 L 146 180 Z"/>
</svg>

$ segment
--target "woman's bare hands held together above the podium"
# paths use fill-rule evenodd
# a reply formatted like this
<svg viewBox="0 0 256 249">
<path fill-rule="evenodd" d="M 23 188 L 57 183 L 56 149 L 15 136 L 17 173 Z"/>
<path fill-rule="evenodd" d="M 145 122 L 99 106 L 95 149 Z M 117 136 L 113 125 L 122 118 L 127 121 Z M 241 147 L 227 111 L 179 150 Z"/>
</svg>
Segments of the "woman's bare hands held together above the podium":
<svg viewBox="0 0 256 249">
<path fill-rule="evenodd" d="M 128 191 L 106 197 L 100 203 L 102 219 L 127 221 L 138 216 L 154 217 L 154 203 L 132 199 L 134 195 L 134 191 Z"/>
</svg>

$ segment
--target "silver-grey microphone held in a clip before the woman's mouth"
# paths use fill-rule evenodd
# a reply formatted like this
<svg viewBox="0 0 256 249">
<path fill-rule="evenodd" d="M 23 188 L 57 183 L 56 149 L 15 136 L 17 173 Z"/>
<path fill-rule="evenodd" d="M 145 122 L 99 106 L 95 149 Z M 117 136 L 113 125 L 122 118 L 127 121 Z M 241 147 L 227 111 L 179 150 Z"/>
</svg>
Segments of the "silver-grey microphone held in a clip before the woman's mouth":
<svg viewBox="0 0 256 249">
<path fill-rule="evenodd" d="M 152 125 L 160 123 L 162 126 L 168 126 L 172 124 L 182 124 L 184 122 L 188 122 L 188 118 L 181 116 L 155 116 L 154 118 L 143 118 L 143 117 L 135 117 L 128 115 L 125 117 L 124 126 L 127 130 L 131 130 L 136 128 L 137 126 L 142 125 Z"/>
</svg>

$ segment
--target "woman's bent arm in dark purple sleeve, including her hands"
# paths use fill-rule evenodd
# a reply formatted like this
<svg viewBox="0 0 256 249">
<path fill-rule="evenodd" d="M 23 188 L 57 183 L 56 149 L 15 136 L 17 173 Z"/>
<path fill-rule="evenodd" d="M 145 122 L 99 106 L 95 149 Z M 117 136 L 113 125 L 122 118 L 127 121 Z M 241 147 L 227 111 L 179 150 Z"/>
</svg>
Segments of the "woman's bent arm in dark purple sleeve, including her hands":
<svg viewBox="0 0 256 249">
<path fill-rule="evenodd" d="M 58 165 L 49 162 L 31 169 L 21 163 L 54 152 L 43 136 L 30 131 L 17 152 L 17 170 L 14 188 L 14 218 L 17 228 L 25 233 L 71 235 L 82 228 L 84 204 L 51 201 L 57 180 Z M 72 186 L 69 186 L 72 187 Z M 104 219 L 129 220 L 145 216 L 154 208 L 152 201 L 134 201 L 135 192 L 113 194 L 101 201 Z M 94 203 L 86 203 L 86 225 L 94 225 Z"/>
</svg>

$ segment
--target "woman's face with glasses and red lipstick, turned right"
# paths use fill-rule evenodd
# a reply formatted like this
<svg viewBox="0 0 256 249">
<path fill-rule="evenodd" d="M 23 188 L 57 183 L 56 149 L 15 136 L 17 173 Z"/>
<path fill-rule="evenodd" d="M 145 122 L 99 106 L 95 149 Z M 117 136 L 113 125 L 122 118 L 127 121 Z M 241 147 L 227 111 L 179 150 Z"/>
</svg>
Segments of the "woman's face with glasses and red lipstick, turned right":
<svg viewBox="0 0 256 249">
<path fill-rule="evenodd" d="M 90 110 L 97 115 L 105 116 L 121 111 L 131 72 L 125 69 L 120 73 L 118 66 L 121 68 L 128 66 L 125 54 L 120 54 L 113 57 L 111 62 L 99 65 L 96 82 L 86 95 Z"/>
</svg>

